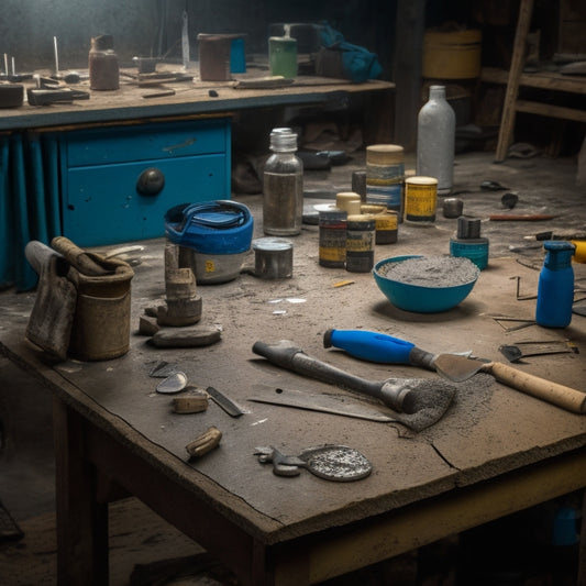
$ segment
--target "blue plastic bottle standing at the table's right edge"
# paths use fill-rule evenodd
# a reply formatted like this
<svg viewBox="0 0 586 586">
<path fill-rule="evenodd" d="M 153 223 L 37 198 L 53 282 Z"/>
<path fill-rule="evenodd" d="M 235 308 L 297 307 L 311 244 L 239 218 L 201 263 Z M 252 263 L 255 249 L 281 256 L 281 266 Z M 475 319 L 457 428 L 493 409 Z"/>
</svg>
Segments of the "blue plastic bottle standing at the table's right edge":
<svg viewBox="0 0 586 586">
<path fill-rule="evenodd" d="M 572 321 L 575 245 L 563 240 L 548 240 L 543 247 L 546 254 L 539 276 L 535 320 L 545 328 L 565 328 Z"/>
</svg>

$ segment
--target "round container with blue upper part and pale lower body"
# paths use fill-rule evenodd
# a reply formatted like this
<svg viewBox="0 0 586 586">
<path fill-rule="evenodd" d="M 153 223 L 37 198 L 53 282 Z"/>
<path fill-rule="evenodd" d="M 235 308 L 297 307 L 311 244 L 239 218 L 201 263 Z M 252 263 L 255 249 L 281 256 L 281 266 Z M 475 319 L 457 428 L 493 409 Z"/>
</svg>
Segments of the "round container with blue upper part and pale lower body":
<svg viewBox="0 0 586 586">
<path fill-rule="evenodd" d="M 254 221 L 246 206 L 215 200 L 176 206 L 165 214 L 165 234 L 179 245 L 179 267 L 198 284 L 225 283 L 240 275 L 251 248 Z"/>
</svg>

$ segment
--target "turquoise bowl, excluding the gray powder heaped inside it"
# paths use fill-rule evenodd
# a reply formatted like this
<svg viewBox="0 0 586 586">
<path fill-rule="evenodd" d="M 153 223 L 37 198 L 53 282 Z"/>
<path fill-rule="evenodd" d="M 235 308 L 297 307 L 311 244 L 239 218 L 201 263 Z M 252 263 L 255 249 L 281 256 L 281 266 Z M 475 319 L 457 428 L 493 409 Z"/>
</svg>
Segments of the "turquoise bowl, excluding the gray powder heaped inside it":
<svg viewBox="0 0 586 586">
<path fill-rule="evenodd" d="M 468 261 L 476 270 L 475 277 L 463 285 L 450 287 L 424 287 L 421 285 L 410 285 L 392 280 L 391 278 L 379 273 L 380 268 L 389 263 L 400 263 L 408 258 L 419 258 L 418 255 L 394 256 L 379 261 L 373 268 L 373 275 L 378 288 L 385 294 L 386 298 L 399 309 L 405 311 L 414 311 L 417 313 L 436 313 L 447 311 L 461 303 L 472 291 L 474 284 L 478 279 L 480 270 L 472 261 Z"/>
</svg>

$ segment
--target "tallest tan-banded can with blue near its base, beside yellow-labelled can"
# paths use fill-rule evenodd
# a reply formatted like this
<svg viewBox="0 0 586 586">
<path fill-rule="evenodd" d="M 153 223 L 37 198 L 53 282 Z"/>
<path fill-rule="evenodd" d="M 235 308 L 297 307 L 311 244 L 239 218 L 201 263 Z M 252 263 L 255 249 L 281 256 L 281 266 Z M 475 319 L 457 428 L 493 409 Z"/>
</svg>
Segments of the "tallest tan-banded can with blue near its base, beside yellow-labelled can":
<svg viewBox="0 0 586 586">
<path fill-rule="evenodd" d="M 405 153 L 398 144 L 366 147 L 366 202 L 386 206 L 402 217 Z"/>
</svg>

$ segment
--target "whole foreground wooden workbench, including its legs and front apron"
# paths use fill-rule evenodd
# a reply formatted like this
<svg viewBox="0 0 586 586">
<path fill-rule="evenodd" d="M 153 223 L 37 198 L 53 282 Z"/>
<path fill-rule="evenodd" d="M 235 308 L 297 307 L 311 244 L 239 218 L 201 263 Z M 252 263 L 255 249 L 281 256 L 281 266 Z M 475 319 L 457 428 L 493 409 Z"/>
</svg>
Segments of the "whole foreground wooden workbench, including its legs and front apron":
<svg viewBox="0 0 586 586">
<path fill-rule="evenodd" d="M 245 203 L 257 219 L 255 236 L 261 235 L 259 198 Z M 534 314 L 534 300 L 517 299 L 513 277 L 530 291 L 538 274 L 515 259 L 491 259 L 457 308 L 420 314 L 391 306 L 371 274 L 320 267 L 317 226 L 306 226 L 292 240 L 291 279 L 242 274 L 228 284 L 198 287 L 201 324 L 222 327 L 222 341 L 208 347 L 156 350 L 133 334 L 121 358 L 51 366 L 24 340 L 34 297 L 7 298 L 0 352 L 55 397 L 62 584 L 106 583 L 106 502 L 120 487 L 217 555 L 242 584 L 299 586 L 586 486 L 584 416 L 494 384 L 487 375 L 458 385 L 449 412 L 420 433 L 397 423 L 247 401 L 256 384 L 349 396 L 268 364 L 252 353 L 258 340 L 289 339 L 306 353 L 369 379 L 438 376 L 324 350 L 322 336 L 332 327 L 386 332 L 431 352 L 472 350 L 491 360 L 502 360 L 498 346 L 512 339 L 571 338 L 582 354 L 528 358 L 519 368 L 585 390 L 586 318 L 575 316 L 564 332 L 533 325 L 515 333 L 491 318 Z M 132 281 L 133 330 L 145 307 L 164 297 L 164 241 L 143 244 Z M 376 256 L 417 252 L 399 242 L 377 246 Z M 334 287 L 343 279 L 353 283 Z M 170 397 L 155 392 L 159 379 L 148 376 L 159 361 L 177 363 L 190 384 L 212 385 L 248 412 L 232 419 L 210 403 L 203 413 L 173 414 Z M 220 446 L 188 462 L 185 446 L 210 425 L 223 433 Z M 355 483 L 330 483 L 306 472 L 277 477 L 254 456 L 258 445 L 295 454 L 325 443 L 360 450 L 373 474 Z"/>
</svg>

